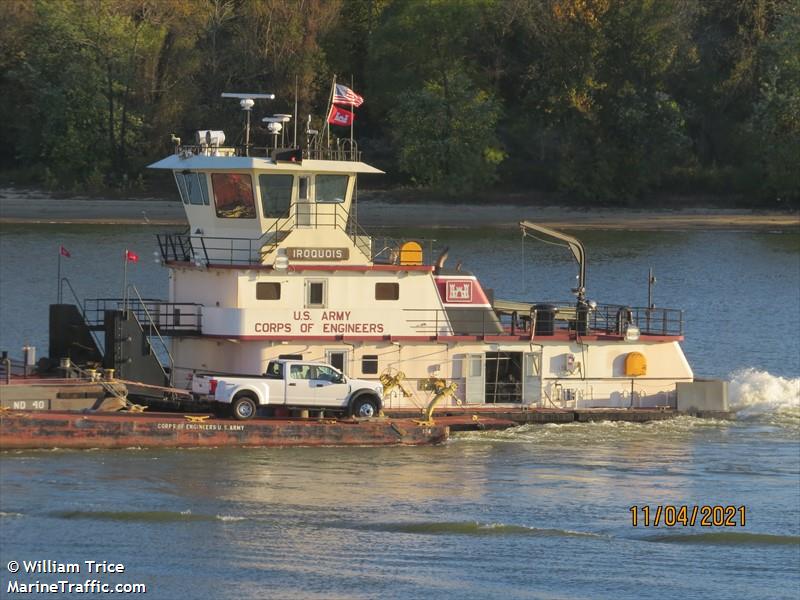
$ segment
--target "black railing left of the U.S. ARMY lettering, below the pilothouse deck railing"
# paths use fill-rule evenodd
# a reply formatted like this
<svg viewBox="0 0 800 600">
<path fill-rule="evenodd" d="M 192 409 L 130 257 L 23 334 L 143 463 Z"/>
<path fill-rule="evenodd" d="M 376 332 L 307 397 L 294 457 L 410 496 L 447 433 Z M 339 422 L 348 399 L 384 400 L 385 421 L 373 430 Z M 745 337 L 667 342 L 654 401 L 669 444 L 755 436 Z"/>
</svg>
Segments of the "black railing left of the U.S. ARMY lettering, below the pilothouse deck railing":
<svg viewBox="0 0 800 600">
<path fill-rule="evenodd" d="M 164 302 L 155 298 L 87 298 L 83 314 L 93 330 L 105 327 L 107 310 L 131 311 L 145 326 L 152 326 L 163 335 L 198 335 L 201 330 L 202 309 L 191 302 Z"/>
</svg>

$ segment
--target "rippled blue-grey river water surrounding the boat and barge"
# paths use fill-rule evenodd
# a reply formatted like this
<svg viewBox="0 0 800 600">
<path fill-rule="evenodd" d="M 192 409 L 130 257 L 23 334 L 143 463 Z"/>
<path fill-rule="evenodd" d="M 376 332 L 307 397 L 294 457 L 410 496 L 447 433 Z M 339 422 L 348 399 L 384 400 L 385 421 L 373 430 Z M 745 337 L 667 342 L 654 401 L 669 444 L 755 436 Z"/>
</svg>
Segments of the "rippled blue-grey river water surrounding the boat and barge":
<svg viewBox="0 0 800 600">
<path fill-rule="evenodd" d="M 0 349 L 46 353 L 61 244 L 81 298 L 120 295 L 126 248 L 130 281 L 165 297 L 154 233 L 5 226 Z M 567 250 L 513 230 L 413 233 L 499 297 L 575 285 Z M 579 237 L 598 302 L 645 305 L 654 268 L 656 304 L 685 309 L 687 358 L 731 380 L 736 421 L 526 426 L 432 448 L 6 452 L 0 597 L 94 577 L 147 598 L 800 597 L 800 234 Z M 632 506 L 658 505 L 743 506 L 745 526 L 632 525 Z M 125 573 L 7 570 L 42 559 Z"/>
</svg>

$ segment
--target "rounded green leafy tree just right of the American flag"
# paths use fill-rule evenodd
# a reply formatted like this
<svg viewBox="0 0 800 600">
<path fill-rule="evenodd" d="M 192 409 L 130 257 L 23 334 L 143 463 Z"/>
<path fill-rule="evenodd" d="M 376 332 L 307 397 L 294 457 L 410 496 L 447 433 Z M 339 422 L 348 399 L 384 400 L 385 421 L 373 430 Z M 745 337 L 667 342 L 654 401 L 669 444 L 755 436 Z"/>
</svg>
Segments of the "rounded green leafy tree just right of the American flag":
<svg viewBox="0 0 800 600">
<path fill-rule="evenodd" d="M 398 2 L 370 48 L 374 112 L 388 116 L 398 166 L 450 194 L 486 187 L 504 157 L 500 113 L 472 52 L 483 2 Z M 419 40 L 428 44 L 420 44 Z"/>
</svg>

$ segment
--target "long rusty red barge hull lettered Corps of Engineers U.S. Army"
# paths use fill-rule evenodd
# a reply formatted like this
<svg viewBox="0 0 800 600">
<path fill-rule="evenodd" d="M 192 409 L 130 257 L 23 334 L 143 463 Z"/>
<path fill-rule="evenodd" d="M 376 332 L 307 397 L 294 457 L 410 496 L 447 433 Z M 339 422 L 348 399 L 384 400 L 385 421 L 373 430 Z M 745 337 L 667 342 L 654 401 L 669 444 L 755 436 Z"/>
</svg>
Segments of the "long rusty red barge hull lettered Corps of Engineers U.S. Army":
<svg viewBox="0 0 800 600">
<path fill-rule="evenodd" d="M 258 446 L 417 446 L 437 444 L 446 425 L 410 419 L 315 421 L 198 418 L 169 413 L 4 411 L 0 450 Z"/>
</svg>

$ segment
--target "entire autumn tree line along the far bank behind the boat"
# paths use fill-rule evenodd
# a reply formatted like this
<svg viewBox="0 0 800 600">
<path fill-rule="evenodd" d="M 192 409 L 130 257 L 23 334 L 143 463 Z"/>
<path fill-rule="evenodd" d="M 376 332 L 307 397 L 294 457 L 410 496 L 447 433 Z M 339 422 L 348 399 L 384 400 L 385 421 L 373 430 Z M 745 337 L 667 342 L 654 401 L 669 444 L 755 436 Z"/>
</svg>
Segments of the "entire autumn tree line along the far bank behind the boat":
<svg viewBox="0 0 800 600">
<path fill-rule="evenodd" d="M 299 129 L 321 125 L 336 75 L 396 184 L 800 199 L 796 0 L 5 0 L 0 20 L 6 179 L 147 187 L 170 134 L 237 141 L 221 92 L 276 94 L 265 140 L 295 86 Z"/>
</svg>

